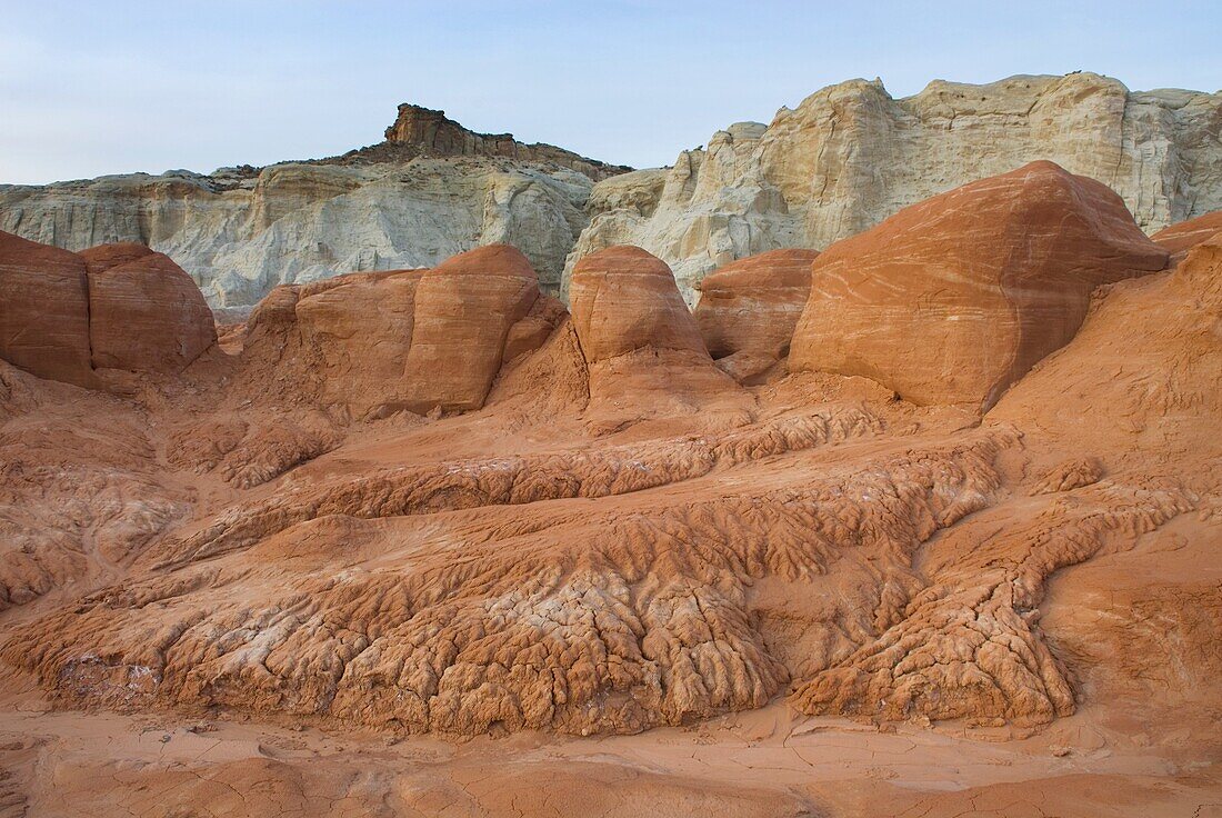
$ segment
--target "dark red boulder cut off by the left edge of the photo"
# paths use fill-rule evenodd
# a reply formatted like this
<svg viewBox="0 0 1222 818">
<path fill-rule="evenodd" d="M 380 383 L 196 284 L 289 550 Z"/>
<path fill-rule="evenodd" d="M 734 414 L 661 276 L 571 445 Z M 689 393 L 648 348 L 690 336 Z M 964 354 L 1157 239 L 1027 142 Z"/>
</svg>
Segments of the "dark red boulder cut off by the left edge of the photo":
<svg viewBox="0 0 1222 818">
<path fill-rule="evenodd" d="M 84 259 L 0 232 L 0 358 L 40 378 L 94 385 Z"/>
</svg>

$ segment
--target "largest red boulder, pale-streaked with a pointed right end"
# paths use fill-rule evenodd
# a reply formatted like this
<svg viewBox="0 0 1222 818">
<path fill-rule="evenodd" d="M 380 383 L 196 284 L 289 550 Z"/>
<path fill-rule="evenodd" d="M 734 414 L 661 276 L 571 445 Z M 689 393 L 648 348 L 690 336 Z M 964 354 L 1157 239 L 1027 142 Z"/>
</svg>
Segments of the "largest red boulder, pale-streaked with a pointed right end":
<svg viewBox="0 0 1222 818">
<path fill-rule="evenodd" d="M 829 247 L 789 366 L 987 408 L 1073 337 L 1091 290 L 1166 265 L 1116 193 L 1033 163 Z"/>
</svg>

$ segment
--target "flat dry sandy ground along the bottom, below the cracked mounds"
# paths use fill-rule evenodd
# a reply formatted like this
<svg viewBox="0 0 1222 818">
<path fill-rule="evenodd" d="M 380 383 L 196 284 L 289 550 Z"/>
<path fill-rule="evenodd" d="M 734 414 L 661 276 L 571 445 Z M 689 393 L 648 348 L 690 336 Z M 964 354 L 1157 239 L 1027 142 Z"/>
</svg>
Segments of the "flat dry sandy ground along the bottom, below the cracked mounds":
<svg viewBox="0 0 1222 818">
<path fill-rule="evenodd" d="M 1166 734 L 1138 703 L 1042 730 L 775 703 L 635 736 L 445 740 L 56 712 L 28 679 L 5 690 L 4 816 L 1222 816 L 1216 712 Z"/>
</svg>

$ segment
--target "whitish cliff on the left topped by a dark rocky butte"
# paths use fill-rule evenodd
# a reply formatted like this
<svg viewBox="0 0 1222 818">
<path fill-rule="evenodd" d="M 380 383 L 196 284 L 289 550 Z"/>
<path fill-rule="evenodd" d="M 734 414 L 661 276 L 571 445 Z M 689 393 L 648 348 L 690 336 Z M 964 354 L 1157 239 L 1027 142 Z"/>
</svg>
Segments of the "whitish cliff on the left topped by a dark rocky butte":
<svg viewBox="0 0 1222 818">
<path fill-rule="evenodd" d="M 386 137 L 263 169 L 0 185 L 0 230 L 71 251 L 148 245 L 214 307 L 254 304 L 277 284 L 434 267 L 490 243 L 519 247 L 555 292 L 591 185 L 628 170 L 473 133 L 415 105 L 400 106 Z"/>
</svg>

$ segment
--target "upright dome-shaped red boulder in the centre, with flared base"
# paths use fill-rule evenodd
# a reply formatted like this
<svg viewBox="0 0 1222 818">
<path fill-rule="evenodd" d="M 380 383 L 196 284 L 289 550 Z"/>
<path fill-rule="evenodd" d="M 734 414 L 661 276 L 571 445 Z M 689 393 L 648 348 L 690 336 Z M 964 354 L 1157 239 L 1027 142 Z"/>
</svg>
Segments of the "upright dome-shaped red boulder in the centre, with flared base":
<svg viewBox="0 0 1222 818">
<path fill-rule="evenodd" d="M 589 369 L 590 412 L 609 428 L 737 392 L 709 357 L 671 269 L 639 247 L 582 258 L 569 309 Z"/>
</svg>

